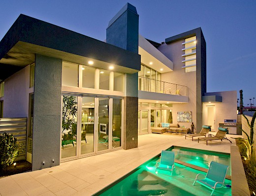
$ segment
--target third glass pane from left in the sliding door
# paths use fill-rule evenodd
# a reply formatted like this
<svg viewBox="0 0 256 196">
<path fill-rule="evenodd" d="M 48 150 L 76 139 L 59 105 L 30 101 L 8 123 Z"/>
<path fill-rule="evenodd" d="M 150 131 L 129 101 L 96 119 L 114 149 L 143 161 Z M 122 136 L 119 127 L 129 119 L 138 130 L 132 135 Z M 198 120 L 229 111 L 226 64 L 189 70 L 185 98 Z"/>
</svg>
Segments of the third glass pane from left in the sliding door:
<svg viewBox="0 0 256 196">
<path fill-rule="evenodd" d="M 108 149 L 109 98 L 98 98 L 98 144 L 97 151 Z"/>
</svg>

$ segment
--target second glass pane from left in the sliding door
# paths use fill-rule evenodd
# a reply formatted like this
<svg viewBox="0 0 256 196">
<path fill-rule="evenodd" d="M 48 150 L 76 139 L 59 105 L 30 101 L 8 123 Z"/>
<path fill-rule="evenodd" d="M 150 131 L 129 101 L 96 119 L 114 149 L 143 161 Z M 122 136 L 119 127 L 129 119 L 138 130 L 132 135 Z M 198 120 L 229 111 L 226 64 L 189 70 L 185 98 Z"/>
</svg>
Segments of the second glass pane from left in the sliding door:
<svg viewBox="0 0 256 196">
<path fill-rule="evenodd" d="M 94 151 L 95 98 L 82 98 L 81 154 Z"/>
</svg>

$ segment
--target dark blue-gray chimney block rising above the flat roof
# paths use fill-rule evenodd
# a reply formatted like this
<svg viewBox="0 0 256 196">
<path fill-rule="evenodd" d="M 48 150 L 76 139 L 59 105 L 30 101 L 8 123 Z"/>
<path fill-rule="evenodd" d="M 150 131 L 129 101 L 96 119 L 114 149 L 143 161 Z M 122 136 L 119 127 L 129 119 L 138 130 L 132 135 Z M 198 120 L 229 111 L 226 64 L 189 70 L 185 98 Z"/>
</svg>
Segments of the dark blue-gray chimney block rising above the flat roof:
<svg viewBox="0 0 256 196">
<path fill-rule="evenodd" d="M 106 42 L 138 54 L 138 36 L 139 15 L 136 8 L 128 3 L 109 22 Z"/>
</svg>

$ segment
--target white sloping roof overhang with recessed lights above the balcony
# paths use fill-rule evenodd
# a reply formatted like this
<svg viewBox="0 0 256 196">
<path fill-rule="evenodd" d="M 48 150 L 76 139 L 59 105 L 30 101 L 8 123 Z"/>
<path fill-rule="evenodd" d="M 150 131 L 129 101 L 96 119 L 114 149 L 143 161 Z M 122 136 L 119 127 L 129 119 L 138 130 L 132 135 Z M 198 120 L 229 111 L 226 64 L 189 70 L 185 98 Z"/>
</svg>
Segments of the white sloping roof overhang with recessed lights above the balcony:
<svg viewBox="0 0 256 196">
<path fill-rule="evenodd" d="M 139 35 L 139 54 L 141 55 L 141 63 L 157 72 L 166 73 L 173 71 L 173 62 L 141 35 Z"/>
</svg>

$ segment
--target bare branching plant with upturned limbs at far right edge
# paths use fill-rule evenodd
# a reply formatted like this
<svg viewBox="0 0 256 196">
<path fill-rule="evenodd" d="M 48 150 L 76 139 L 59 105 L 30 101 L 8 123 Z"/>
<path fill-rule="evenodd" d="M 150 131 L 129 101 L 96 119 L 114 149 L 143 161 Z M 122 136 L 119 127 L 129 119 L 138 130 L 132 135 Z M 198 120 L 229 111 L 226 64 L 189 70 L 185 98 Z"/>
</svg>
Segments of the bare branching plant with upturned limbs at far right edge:
<svg viewBox="0 0 256 196">
<path fill-rule="evenodd" d="M 246 119 L 248 126 L 250 127 L 250 137 L 249 135 L 242 129 L 242 131 L 246 134 L 247 140 L 244 140 L 244 144 L 247 148 L 247 158 L 250 159 L 251 155 L 253 153 L 253 145 L 254 145 L 254 122 L 256 118 L 256 112 L 254 113 L 254 116 L 252 118 L 251 124 L 249 123 L 249 120 L 246 118 L 246 116 L 243 114 L 243 117 Z"/>
</svg>

